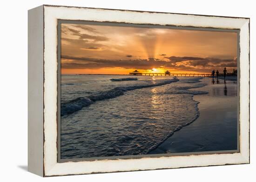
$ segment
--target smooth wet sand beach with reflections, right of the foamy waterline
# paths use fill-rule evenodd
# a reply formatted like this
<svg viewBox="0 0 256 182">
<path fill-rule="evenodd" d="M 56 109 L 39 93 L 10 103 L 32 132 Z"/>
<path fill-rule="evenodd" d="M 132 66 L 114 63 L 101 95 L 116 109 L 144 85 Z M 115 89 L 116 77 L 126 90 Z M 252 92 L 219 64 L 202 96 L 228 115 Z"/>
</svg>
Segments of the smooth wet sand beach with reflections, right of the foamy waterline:
<svg viewBox="0 0 256 182">
<path fill-rule="evenodd" d="M 208 85 L 197 90 L 209 94 L 195 95 L 200 116 L 183 127 L 149 154 L 199 151 L 230 151 L 237 145 L 237 84 L 204 78 Z"/>
</svg>

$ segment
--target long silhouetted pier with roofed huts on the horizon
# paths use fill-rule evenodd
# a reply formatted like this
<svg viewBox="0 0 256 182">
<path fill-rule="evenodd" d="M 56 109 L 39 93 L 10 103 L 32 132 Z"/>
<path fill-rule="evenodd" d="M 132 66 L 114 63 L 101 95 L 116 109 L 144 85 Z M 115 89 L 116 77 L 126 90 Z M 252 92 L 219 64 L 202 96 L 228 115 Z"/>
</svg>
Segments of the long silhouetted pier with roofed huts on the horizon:
<svg viewBox="0 0 256 182">
<path fill-rule="evenodd" d="M 201 77 L 211 77 L 211 74 L 204 74 L 204 73 L 141 73 L 141 72 L 131 72 L 130 75 L 136 76 L 201 76 Z"/>
</svg>

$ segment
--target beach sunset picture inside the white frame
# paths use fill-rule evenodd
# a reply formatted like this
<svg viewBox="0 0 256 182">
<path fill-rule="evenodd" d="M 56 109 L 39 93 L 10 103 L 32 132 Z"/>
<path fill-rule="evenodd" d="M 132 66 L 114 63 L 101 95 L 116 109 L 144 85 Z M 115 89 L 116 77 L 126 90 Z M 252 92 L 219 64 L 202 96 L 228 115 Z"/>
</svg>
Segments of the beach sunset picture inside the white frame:
<svg viewBox="0 0 256 182">
<path fill-rule="evenodd" d="M 61 159 L 237 151 L 236 31 L 59 26 Z"/>
</svg>

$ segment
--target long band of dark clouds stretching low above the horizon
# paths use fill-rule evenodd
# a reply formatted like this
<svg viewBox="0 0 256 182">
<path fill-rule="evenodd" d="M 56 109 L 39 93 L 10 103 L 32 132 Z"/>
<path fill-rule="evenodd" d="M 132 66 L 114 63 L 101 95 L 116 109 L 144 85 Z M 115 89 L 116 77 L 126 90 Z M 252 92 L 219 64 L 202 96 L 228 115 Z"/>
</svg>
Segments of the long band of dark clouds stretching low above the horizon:
<svg viewBox="0 0 256 182">
<path fill-rule="evenodd" d="M 175 56 L 173 56 L 175 57 Z M 212 62 L 205 62 L 206 59 L 200 57 L 175 57 L 176 61 L 189 60 L 188 63 L 173 63 L 173 61 L 164 61 L 155 58 L 148 59 L 134 59 L 134 60 L 109 60 L 109 59 L 96 59 L 92 57 L 76 57 L 76 56 L 61 56 L 61 59 L 72 60 L 70 62 L 63 62 L 61 68 L 64 69 L 99 69 L 99 68 L 113 68 L 120 67 L 124 69 L 152 69 L 152 68 L 166 68 L 166 69 L 179 69 L 190 71 L 210 71 L 211 69 L 221 69 L 224 67 L 233 68 L 236 67 L 236 60 L 230 59 L 219 60 L 221 64 L 213 65 Z M 207 60 L 216 60 L 215 58 L 208 58 Z M 224 63 L 223 63 L 223 62 Z"/>
</svg>

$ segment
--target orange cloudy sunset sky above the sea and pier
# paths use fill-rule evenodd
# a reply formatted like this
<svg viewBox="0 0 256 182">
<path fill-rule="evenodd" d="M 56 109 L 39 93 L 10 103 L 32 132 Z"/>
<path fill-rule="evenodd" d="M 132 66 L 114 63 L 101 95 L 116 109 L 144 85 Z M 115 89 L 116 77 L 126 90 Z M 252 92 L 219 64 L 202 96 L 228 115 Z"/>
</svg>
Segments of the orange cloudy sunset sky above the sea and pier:
<svg viewBox="0 0 256 182">
<path fill-rule="evenodd" d="M 62 74 L 222 72 L 236 56 L 236 32 L 61 24 Z"/>
</svg>

